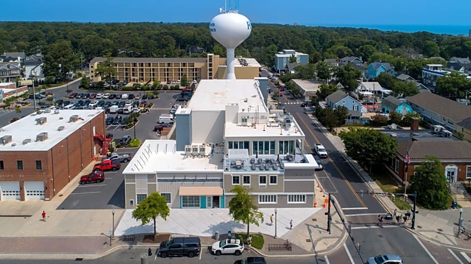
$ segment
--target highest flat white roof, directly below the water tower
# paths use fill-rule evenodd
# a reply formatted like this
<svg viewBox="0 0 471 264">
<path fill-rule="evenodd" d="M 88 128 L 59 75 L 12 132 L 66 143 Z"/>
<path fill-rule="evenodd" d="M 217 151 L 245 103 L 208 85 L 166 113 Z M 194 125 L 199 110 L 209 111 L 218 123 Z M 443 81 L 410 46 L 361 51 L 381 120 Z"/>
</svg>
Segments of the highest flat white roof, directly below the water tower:
<svg viewBox="0 0 471 264">
<path fill-rule="evenodd" d="M 259 82 L 255 79 L 203 79 L 199 81 L 186 108 L 197 110 L 225 110 L 227 104 L 237 103 L 239 109 L 268 112 L 262 98 Z"/>
</svg>

